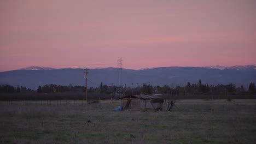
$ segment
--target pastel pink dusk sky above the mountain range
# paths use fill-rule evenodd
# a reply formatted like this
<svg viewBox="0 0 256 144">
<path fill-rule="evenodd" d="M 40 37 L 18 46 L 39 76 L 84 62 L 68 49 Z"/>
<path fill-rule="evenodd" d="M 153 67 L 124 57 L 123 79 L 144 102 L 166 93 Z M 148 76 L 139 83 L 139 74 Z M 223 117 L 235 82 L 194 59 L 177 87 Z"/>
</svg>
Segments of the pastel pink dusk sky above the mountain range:
<svg viewBox="0 0 256 144">
<path fill-rule="evenodd" d="M 256 1 L 0 1 L 0 71 L 256 64 Z"/>
</svg>

